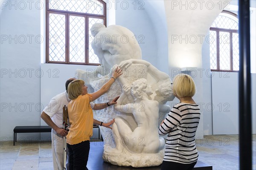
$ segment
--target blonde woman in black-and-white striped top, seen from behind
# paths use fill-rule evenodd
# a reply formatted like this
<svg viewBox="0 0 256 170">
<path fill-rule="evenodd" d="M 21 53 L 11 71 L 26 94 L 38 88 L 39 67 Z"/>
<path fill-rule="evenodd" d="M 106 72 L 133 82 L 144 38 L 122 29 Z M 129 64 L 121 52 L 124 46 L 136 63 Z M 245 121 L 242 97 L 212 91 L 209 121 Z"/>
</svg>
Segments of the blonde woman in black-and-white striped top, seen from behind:
<svg viewBox="0 0 256 170">
<path fill-rule="evenodd" d="M 159 127 L 166 135 L 166 150 L 161 170 L 192 170 L 198 160 L 195 132 L 200 119 L 200 109 L 192 97 L 195 82 L 187 74 L 179 74 L 173 81 L 173 93 L 180 100 Z"/>
</svg>

